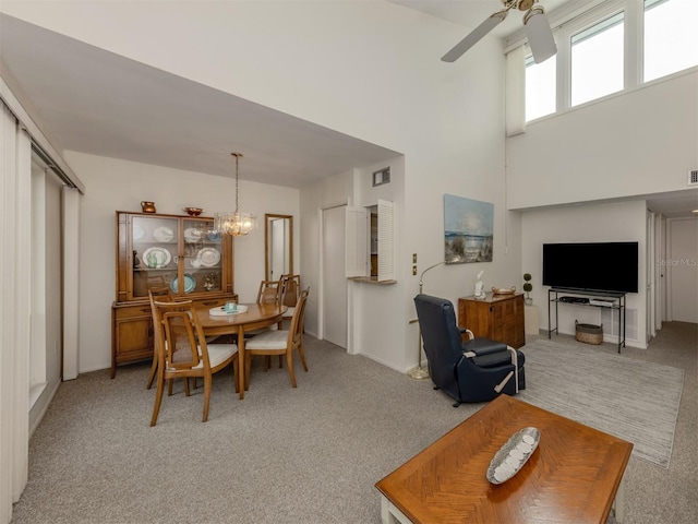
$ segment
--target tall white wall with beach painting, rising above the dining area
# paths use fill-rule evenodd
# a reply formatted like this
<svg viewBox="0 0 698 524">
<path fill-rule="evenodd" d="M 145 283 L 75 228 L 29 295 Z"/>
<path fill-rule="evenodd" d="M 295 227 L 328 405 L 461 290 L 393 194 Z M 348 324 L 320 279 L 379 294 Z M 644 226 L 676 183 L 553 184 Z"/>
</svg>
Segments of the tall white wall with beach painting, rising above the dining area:
<svg viewBox="0 0 698 524">
<path fill-rule="evenodd" d="M 404 245 L 396 252 L 398 284 L 387 291 L 389 301 L 397 301 L 392 306 L 399 317 L 382 326 L 389 343 L 381 349 L 387 353 L 375 358 L 397 369 L 413 365 L 413 344 L 405 342 L 416 336 L 416 327 L 408 324 L 414 315 L 412 297 L 418 287 L 411 255 L 418 253 L 420 272 L 443 260 L 444 193 L 494 203 L 494 262 L 434 272 L 429 291 L 454 300 L 471 294 L 474 275 L 483 266 L 486 285 L 519 284 L 519 253 L 507 245 L 512 224 L 504 198 L 504 56 L 497 39 L 485 37 L 458 62 L 445 63 L 440 57 L 462 38 L 462 27 L 383 1 L 9 1 L 2 9 L 404 153 L 405 204 L 396 228 Z M 325 205 L 322 188 L 326 186 L 308 189 L 312 205 L 318 201 Z M 142 198 L 133 195 L 132 201 Z M 316 206 L 304 211 L 303 219 L 316 212 Z M 302 241 L 311 242 L 301 252 L 316 257 L 318 246 L 312 243 L 316 237 L 305 236 L 305 230 L 314 233 L 316 224 L 301 227 Z M 308 274 L 312 266 L 300 267 Z M 308 308 L 312 330 L 317 320 L 312 300 Z M 362 310 L 366 319 L 381 312 L 373 305 Z"/>
</svg>

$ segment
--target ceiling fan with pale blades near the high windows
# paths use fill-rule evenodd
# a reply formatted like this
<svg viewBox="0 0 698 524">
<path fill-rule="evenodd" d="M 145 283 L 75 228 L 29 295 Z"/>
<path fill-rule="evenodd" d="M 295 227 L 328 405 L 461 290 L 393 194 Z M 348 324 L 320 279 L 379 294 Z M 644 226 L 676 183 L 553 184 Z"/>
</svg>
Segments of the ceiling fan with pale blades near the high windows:
<svg viewBox="0 0 698 524">
<path fill-rule="evenodd" d="M 509 10 L 516 8 L 519 11 L 526 11 L 524 14 L 524 26 L 526 27 L 526 36 L 531 46 L 533 60 L 540 63 L 547 60 L 557 52 L 553 32 L 547 23 L 545 10 L 542 5 L 535 5 L 538 0 L 501 0 L 504 9 L 492 14 L 489 19 L 476 27 L 472 33 L 460 40 L 456 46 L 444 55 L 441 59 L 444 62 L 455 62 L 460 56 L 474 46 L 480 39 L 490 33 L 497 24 L 500 24 Z"/>
</svg>

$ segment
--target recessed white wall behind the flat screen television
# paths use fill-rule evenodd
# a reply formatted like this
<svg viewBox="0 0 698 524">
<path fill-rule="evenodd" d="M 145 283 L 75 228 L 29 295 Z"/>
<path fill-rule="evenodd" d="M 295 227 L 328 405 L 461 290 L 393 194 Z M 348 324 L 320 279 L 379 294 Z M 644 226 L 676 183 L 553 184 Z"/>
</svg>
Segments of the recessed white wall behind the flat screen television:
<svg viewBox="0 0 698 524">
<path fill-rule="evenodd" d="M 627 295 L 627 308 L 637 309 L 637 337 L 627 338 L 626 345 L 646 347 L 646 275 L 647 243 L 643 201 L 568 206 L 535 210 L 522 213 L 522 269 L 533 277 L 531 297 L 540 308 L 540 327 L 547 330 L 547 287 L 542 285 L 543 243 L 553 242 L 614 242 L 637 241 L 639 267 L 637 294 Z M 583 271 L 583 267 L 579 269 Z M 561 306 L 559 332 L 575 333 L 575 320 L 601 324 L 601 308 Z M 554 323 L 554 320 L 553 320 Z M 555 335 L 553 335 L 555 336 Z"/>
</svg>

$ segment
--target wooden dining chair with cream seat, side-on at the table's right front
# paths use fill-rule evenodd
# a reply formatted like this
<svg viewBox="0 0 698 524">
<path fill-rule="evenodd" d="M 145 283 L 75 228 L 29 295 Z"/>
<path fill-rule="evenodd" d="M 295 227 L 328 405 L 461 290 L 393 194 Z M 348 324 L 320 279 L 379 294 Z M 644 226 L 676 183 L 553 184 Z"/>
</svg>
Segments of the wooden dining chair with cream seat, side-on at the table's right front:
<svg viewBox="0 0 698 524">
<path fill-rule="evenodd" d="M 252 357 L 255 355 L 273 356 L 286 355 L 286 364 L 288 373 L 291 378 L 291 385 L 296 388 L 296 373 L 293 372 L 293 352 L 298 352 L 303 369 L 308 371 L 305 362 L 305 353 L 303 352 L 303 319 L 305 315 L 305 302 L 310 288 L 301 293 L 291 326 L 285 330 L 268 330 L 265 333 L 256 335 L 245 343 L 245 383 L 250 381 L 250 368 L 252 366 Z"/>
</svg>

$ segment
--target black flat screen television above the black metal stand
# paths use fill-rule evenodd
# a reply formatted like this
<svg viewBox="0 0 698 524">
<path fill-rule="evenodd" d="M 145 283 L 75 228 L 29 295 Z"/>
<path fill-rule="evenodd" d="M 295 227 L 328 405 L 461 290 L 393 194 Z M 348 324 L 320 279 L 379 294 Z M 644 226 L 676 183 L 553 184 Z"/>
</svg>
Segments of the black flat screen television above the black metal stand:
<svg viewBox="0 0 698 524">
<path fill-rule="evenodd" d="M 544 243 L 543 285 L 637 293 L 638 242 Z"/>
</svg>

